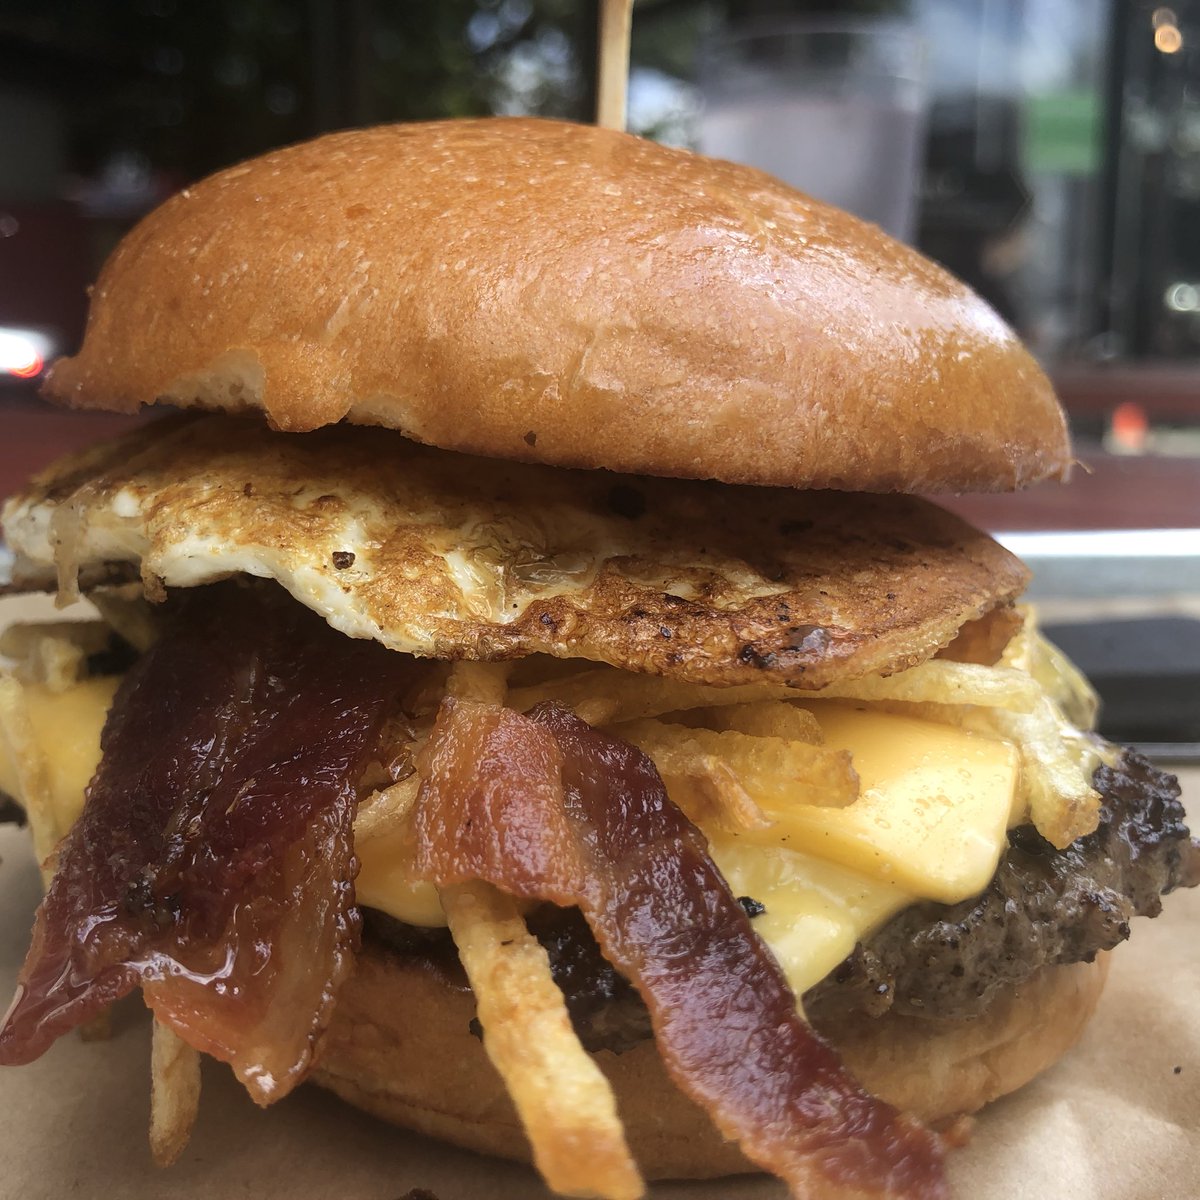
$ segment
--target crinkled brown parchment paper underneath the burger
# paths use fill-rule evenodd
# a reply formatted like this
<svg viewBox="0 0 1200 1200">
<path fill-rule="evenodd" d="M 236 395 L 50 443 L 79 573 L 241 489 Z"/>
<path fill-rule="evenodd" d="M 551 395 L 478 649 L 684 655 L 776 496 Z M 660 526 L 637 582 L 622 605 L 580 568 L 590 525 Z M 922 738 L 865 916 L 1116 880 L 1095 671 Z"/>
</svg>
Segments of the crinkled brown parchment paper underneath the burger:
<svg viewBox="0 0 1200 1200">
<path fill-rule="evenodd" d="M 18 616 L 0 602 L 0 626 Z M 22 607 L 20 617 L 32 616 Z M 38 617 L 42 616 L 40 611 Z M 1200 769 L 1184 798 L 1200 812 Z M 41 894 L 28 834 L 0 827 L 0 1003 Z M 958 1200 L 1200 1200 L 1200 889 L 1168 898 L 1114 954 L 1099 1013 L 1063 1062 L 977 1122 L 955 1153 Z M 391 1129 L 314 1087 L 262 1111 L 206 1062 L 181 1160 L 150 1162 L 150 1030 L 119 1006 L 110 1040 L 61 1038 L 0 1069 L 0 1200 L 544 1200 L 526 1168 Z M 655 1200 L 782 1200 L 758 1177 L 655 1186 Z"/>
</svg>

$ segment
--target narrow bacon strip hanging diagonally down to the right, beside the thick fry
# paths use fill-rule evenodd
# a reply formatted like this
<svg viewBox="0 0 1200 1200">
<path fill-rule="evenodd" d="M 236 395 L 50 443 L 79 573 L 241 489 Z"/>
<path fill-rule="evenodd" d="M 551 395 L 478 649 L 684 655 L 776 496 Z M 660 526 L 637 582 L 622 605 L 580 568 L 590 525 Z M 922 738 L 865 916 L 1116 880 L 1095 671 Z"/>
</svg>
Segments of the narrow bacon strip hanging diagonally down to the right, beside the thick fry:
<svg viewBox="0 0 1200 1200">
<path fill-rule="evenodd" d="M 638 989 L 676 1084 L 797 1196 L 947 1195 L 942 1144 L 868 1096 L 637 749 L 542 704 L 448 700 L 415 812 L 418 870 L 577 905 Z"/>
</svg>

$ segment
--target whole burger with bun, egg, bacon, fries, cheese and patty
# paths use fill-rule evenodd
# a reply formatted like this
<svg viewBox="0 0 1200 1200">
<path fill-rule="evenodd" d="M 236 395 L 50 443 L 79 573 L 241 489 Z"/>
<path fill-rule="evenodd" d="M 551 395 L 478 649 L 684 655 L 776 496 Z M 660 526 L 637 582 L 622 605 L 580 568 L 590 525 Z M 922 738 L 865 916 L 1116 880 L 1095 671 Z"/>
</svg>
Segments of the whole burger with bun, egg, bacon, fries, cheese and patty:
<svg viewBox="0 0 1200 1200">
<path fill-rule="evenodd" d="M 0 790 L 47 895 L 0 1063 L 140 988 L 196 1055 L 532 1157 L 941 1196 L 1200 880 L 1027 571 L 923 499 L 1064 478 L 967 288 L 744 167 L 532 120 L 190 187 L 47 396 L 176 412 L 4 510 Z"/>
</svg>

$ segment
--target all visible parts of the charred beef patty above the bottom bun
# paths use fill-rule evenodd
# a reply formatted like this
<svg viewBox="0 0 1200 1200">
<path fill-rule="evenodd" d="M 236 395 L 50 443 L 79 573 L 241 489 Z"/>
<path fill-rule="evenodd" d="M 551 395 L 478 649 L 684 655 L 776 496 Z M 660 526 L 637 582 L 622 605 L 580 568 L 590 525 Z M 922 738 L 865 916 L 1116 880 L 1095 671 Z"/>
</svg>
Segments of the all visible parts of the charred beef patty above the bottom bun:
<svg viewBox="0 0 1200 1200">
<path fill-rule="evenodd" d="M 1154 917 L 1159 899 L 1200 881 L 1200 842 L 1189 838 L 1175 779 L 1124 751 L 1097 769 L 1103 796 L 1097 830 L 1060 851 L 1032 826 L 1009 834 L 989 887 L 956 905 L 906 908 L 804 996 L 815 1024 L 889 1009 L 966 1019 L 1003 989 L 1048 966 L 1091 961 L 1129 936 L 1132 917 Z M 748 912 L 755 904 L 744 898 Z M 370 936 L 391 952 L 466 978 L 449 931 L 407 925 L 367 911 Z M 542 906 L 529 928 L 545 946 L 576 1032 L 589 1050 L 620 1052 L 650 1037 L 637 992 L 601 955 L 575 910 Z"/>
</svg>

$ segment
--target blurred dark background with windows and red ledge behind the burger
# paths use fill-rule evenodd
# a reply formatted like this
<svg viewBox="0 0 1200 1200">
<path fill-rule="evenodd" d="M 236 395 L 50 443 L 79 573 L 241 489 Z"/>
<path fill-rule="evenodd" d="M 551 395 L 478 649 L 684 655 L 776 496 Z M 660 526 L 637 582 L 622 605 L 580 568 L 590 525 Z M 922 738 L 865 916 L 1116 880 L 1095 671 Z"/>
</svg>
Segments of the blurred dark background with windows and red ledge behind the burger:
<svg viewBox="0 0 1200 1200">
<path fill-rule="evenodd" d="M 596 10 L 4 0 L 0 494 L 122 420 L 65 419 L 36 390 L 140 215 L 344 126 L 589 120 Z M 1086 469 L 955 503 L 1044 593 L 1136 593 L 1142 616 L 1147 595 L 1200 595 L 1200 0 L 640 0 L 629 126 L 857 209 L 1019 330 Z"/>
</svg>

